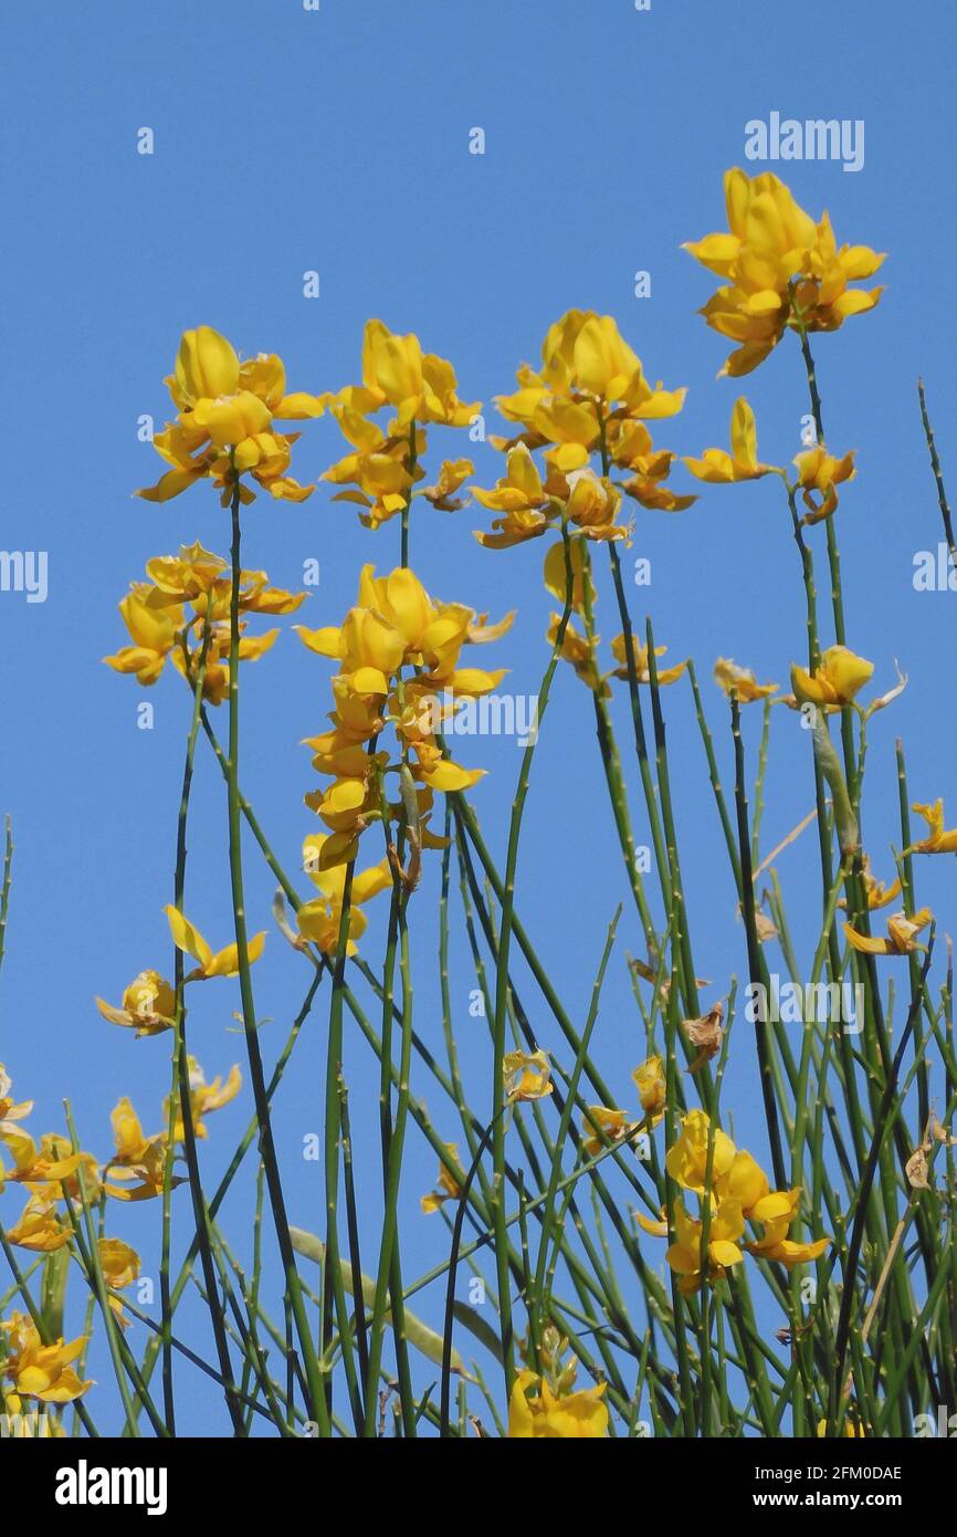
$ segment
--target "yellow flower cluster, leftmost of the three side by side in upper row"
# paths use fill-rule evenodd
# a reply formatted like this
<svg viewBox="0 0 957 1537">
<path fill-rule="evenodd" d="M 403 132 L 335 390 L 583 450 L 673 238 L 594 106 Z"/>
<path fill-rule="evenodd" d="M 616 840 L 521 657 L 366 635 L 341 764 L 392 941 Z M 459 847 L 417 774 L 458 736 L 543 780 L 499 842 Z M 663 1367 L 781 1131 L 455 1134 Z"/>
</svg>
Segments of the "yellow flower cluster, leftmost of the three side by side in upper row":
<svg viewBox="0 0 957 1537">
<path fill-rule="evenodd" d="M 286 473 L 298 433 L 284 437 L 273 430 L 272 421 L 320 417 L 326 398 L 287 395 L 286 370 L 275 354 L 240 363 L 226 337 L 212 326 L 198 326 L 183 334 L 166 384 L 178 417 L 155 435 L 154 447 L 172 469 L 137 495 L 169 501 L 209 476 L 221 492 L 223 506 L 237 483 L 241 500 L 249 503 L 255 492 L 241 480 L 246 473 L 286 501 L 304 501 L 315 490 Z"/>
</svg>

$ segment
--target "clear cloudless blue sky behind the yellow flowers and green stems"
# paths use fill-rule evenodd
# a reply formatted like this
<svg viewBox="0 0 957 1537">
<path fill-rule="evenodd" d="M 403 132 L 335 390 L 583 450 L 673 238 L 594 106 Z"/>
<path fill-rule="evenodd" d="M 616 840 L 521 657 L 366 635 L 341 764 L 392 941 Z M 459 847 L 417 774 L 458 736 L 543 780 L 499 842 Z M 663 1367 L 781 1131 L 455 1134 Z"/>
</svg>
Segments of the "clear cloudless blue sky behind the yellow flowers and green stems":
<svg viewBox="0 0 957 1537">
<path fill-rule="evenodd" d="M 942 538 L 929 478 L 916 380 L 923 373 L 945 470 L 957 463 L 954 430 L 954 209 L 942 168 L 957 149 L 951 111 L 954 20 L 946 8 L 903 12 L 888 0 L 810 0 L 800 20 L 757 0 L 714 8 L 705 0 L 507 0 L 450 6 L 410 0 L 207 0 L 201 8 L 157 0 L 149 8 L 101 0 L 91 12 L 52 5 L 8 18 L 3 141 L 11 238 L 3 252 L 6 297 L 8 452 L 3 536 L 9 550 L 46 550 L 49 595 L 28 604 L 0 593 L 0 698 L 5 712 L 0 810 L 17 842 L 8 954 L 0 984 L 0 1059 L 20 1094 L 37 1100 L 31 1125 L 58 1127 L 69 1096 L 81 1137 L 109 1145 L 108 1114 L 129 1093 L 155 1130 L 166 1093 L 163 1039 L 134 1042 L 94 1010 L 117 1001 L 144 965 L 169 968 L 161 907 L 171 899 L 175 815 L 187 702 L 163 678 L 149 695 L 100 658 L 124 642 L 117 601 L 143 563 L 201 538 L 226 553 L 226 518 L 206 487 L 164 506 L 131 500 L 158 460 L 137 441 L 137 418 L 166 410 L 161 378 L 180 332 L 212 324 L 252 354 L 277 350 L 295 389 L 336 389 L 358 377 L 363 323 L 384 318 L 415 330 L 427 350 L 455 363 L 464 398 L 490 401 L 512 389 L 515 367 L 535 361 L 551 320 L 570 306 L 613 314 L 650 378 L 688 386 L 684 413 L 662 424 L 661 443 L 685 453 L 727 443 L 731 381 L 716 381 L 725 343 L 696 309 L 710 277 L 679 251 L 724 224 L 722 174 L 742 163 L 745 123 L 780 111 L 796 118 L 862 118 L 863 169 L 839 163 L 777 168 L 814 215 L 830 209 L 837 238 L 886 251 L 886 294 L 876 314 L 816 343 L 830 447 L 859 450 L 859 478 L 845 489 L 839 533 L 849 644 L 876 662 L 876 684 L 909 686 L 871 727 L 866 841 L 889 871 L 897 836 L 894 738 L 906 744 L 917 799 L 954 801 L 957 722 L 942 659 L 954 596 L 917 593 L 912 559 Z M 151 128 L 155 152 L 137 154 Z M 485 154 L 469 154 L 470 129 Z M 321 297 L 303 297 L 318 271 Z M 636 300 L 634 272 L 651 274 Z M 760 455 L 783 463 L 800 447 L 805 383 L 793 338 L 747 384 Z M 488 409 L 488 424 L 498 420 Z M 464 443 L 436 433 L 439 449 Z M 12 452 L 12 447 L 17 452 Z M 296 469 L 315 478 L 339 455 L 335 424 L 307 424 Z M 499 460 L 476 450 L 490 484 Z M 680 489 L 684 470 L 676 475 Z M 418 510 L 412 561 L 436 595 L 493 616 L 518 607 L 515 630 L 490 650 L 512 669 L 508 687 L 535 693 L 547 661 L 550 599 L 541 586 L 542 547 L 479 550 L 481 509 L 455 516 Z M 822 530 L 816 544 L 823 549 Z M 298 586 L 303 561 L 323 579 L 304 622 L 338 622 L 353 599 L 359 566 L 398 564 L 395 524 L 378 535 L 333 506 L 327 487 L 303 507 L 260 498 L 246 518 L 246 564 Z M 803 592 L 786 507 L 773 480 L 705 489 L 680 516 L 637 509 L 631 556 L 651 559 L 651 587 L 634 590 L 633 616 L 653 618 L 668 659 L 694 655 L 719 738 L 725 776 L 725 704 L 708 676 L 717 655 L 786 681 L 803 658 Z M 823 555 L 819 558 L 823 564 Z M 819 569 L 820 569 L 819 566 Z M 599 630 L 618 633 L 604 590 Z M 823 598 L 822 598 L 823 609 Z M 495 661 L 492 661 L 495 656 Z M 590 701 L 564 670 L 535 762 L 518 905 L 576 1019 L 584 1019 L 598 951 L 625 896 L 611 842 Z M 137 729 L 137 705 L 155 705 L 155 729 Z M 312 785 L 298 745 L 327 710 L 327 669 L 290 633 L 244 678 L 243 784 L 286 865 L 293 868 L 312 816 Z M 622 750 L 627 715 L 618 701 Z M 757 713 L 748 719 L 756 749 Z M 763 851 L 810 810 L 810 744 L 776 712 Z M 220 722 L 224 732 L 224 719 Z M 475 805 L 493 847 L 504 828 L 519 755 L 513 742 L 469 741 L 461 758 L 487 767 Z M 745 970 L 743 931 L 705 776 L 690 695 L 668 696 L 668 749 L 679 802 L 688 915 L 702 976 L 727 991 Z M 633 798 L 642 827 L 637 798 Z M 639 832 L 641 838 L 641 832 Z M 814 847 L 805 838 L 780 861 L 794 928 L 810 954 L 816 918 Z M 200 750 L 190 816 L 187 910 L 217 944 L 229 938 L 226 808 L 215 764 Z M 949 861 L 920 871 L 922 898 L 949 927 Z M 418 1024 L 441 1041 L 435 1011 L 438 862 L 415 899 Z M 270 927 L 272 879 L 247 856 L 247 907 Z M 375 915 L 366 953 L 381 942 Z M 413 930 L 415 933 L 415 930 Z M 641 1054 L 624 950 L 636 950 L 625 908 L 596 1054 L 608 1081 L 630 1093 Z M 307 978 L 273 933 L 258 968 L 258 1008 L 275 1021 L 269 1053 L 284 1034 Z M 521 974 L 521 973 L 519 973 Z M 453 956 L 456 1034 L 473 1082 L 487 1097 L 487 1041 L 469 1017 L 472 973 Z M 555 1044 L 530 984 L 522 996 Z M 230 984 L 194 1008 L 190 1039 L 209 1074 L 244 1059 Z M 281 1096 L 280 1145 L 293 1220 L 320 1220 L 318 1165 L 303 1164 L 301 1139 L 320 1130 L 321 1002 Z M 740 1030 L 725 1104 L 759 1156 L 750 1042 Z M 353 1117 L 375 1127 L 373 1064 L 350 1044 Z M 484 1076 L 482 1076 L 484 1074 Z M 432 1087 L 436 1124 L 455 1127 Z M 481 1099 L 479 1099 L 481 1102 Z M 249 1093 L 210 1122 L 204 1167 L 210 1183 L 250 1110 Z M 378 1140 L 378 1139 L 376 1139 Z M 366 1242 L 376 1231 L 376 1142 L 359 1168 L 370 1194 Z M 438 1219 L 418 1217 L 433 1157 L 410 1140 L 406 1268 L 442 1257 Z M 14 1219 L 15 1197 L 3 1217 Z M 232 1207 L 238 1242 L 249 1193 Z M 158 1208 L 117 1211 L 114 1230 L 143 1247 Z M 189 1234 L 186 1200 L 180 1236 Z M 149 1268 L 149 1266 L 147 1266 Z M 433 1308 L 438 1299 L 422 1305 Z M 100 1363 L 101 1380 L 108 1366 Z M 190 1380 L 184 1423 L 204 1425 L 206 1389 Z"/>
</svg>

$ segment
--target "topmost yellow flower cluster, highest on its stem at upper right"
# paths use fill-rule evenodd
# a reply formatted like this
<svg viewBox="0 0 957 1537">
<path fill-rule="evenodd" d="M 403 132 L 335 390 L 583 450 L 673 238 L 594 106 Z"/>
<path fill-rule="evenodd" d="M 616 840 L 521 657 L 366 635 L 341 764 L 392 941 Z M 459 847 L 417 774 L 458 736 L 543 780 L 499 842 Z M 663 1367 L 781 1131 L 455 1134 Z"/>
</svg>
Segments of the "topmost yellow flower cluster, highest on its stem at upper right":
<svg viewBox="0 0 957 1537">
<path fill-rule="evenodd" d="M 739 343 L 724 373 L 750 373 L 788 326 L 836 330 L 877 304 L 882 289 L 848 284 L 873 277 L 883 257 L 868 246 L 837 247 L 828 215 L 814 223 L 776 175 L 728 171 L 725 203 L 728 232 L 684 247 L 727 280 L 702 309 L 708 326 Z"/>
</svg>

